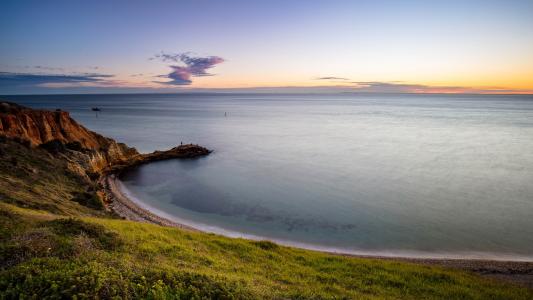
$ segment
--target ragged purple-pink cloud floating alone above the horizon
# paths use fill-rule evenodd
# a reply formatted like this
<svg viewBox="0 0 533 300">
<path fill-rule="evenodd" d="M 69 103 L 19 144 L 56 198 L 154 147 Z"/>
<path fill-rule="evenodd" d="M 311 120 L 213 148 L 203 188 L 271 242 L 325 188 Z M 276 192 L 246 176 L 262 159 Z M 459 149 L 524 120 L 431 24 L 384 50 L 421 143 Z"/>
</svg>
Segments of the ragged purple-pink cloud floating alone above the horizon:
<svg viewBox="0 0 533 300">
<path fill-rule="evenodd" d="M 194 57 L 189 53 L 169 54 L 161 52 L 151 58 L 159 59 L 162 62 L 182 63 L 182 65 L 170 65 L 172 72 L 159 75 L 160 78 L 168 78 L 170 81 L 156 81 L 157 83 L 169 85 L 189 85 L 192 77 L 213 76 L 207 71 L 215 65 L 224 62 L 219 56 Z"/>
</svg>

